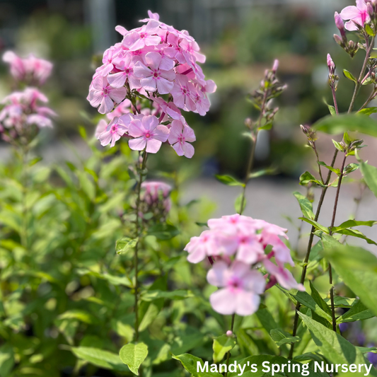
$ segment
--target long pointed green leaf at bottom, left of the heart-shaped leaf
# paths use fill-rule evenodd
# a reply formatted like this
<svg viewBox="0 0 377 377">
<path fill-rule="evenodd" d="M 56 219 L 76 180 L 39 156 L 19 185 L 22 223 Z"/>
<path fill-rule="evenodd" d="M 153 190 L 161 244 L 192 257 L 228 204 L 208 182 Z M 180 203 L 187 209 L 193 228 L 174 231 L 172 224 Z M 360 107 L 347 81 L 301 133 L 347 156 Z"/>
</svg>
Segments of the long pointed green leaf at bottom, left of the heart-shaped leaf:
<svg viewBox="0 0 377 377">
<path fill-rule="evenodd" d="M 112 371 L 129 371 L 117 354 L 93 347 L 71 347 L 71 352 L 81 360 Z"/>
</svg>

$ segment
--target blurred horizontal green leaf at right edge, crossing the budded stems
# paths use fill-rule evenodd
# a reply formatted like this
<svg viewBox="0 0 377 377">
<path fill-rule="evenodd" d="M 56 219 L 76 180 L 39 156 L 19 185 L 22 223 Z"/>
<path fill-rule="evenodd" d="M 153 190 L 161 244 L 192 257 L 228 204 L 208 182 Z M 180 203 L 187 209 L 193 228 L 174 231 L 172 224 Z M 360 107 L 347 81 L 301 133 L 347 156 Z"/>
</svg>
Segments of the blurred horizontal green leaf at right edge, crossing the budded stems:
<svg viewBox="0 0 377 377">
<path fill-rule="evenodd" d="M 332 117 L 322 118 L 316 122 L 313 127 L 314 130 L 325 132 L 326 134 L 342 134 L 347 131 L 361 132 L 373 137 L 377 137 L 377 121 L 365 115 L 337 115 Z"/>
</svg>

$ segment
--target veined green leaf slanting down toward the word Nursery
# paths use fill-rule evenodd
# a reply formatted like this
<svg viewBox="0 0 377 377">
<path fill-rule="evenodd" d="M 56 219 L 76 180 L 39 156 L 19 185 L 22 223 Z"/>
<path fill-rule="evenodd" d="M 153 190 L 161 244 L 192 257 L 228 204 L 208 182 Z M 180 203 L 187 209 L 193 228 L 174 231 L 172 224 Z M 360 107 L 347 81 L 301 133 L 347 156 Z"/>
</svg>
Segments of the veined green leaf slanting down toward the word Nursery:
<svg viewBox="0 0 377 377">
<path fill-rule="evenodd" d="M 332 364 L 367 364 L 364 355 L 353 344 L 345 340 L 344 337 L 337 334 L 337 332 L 328 329 L 327 327 L 315 322 L 312 318 L 298 312 L 303 323 L 306 324 L 311 336 L 319 347 L 326 359 Z M 377 376 L 376 371 L 371 370 L 371 375 Z"/>
</svg>

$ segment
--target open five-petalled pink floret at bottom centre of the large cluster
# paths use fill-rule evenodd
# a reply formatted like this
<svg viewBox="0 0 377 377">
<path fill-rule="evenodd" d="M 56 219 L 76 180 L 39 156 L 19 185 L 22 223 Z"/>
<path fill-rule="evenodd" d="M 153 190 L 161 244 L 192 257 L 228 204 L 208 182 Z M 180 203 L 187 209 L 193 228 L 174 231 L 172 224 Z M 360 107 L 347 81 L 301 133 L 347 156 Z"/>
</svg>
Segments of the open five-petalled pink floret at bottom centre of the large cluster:
<svg viewBox="0 0 377 377">
<path fill-rule="evenodd" d="M 129 124 L 128 133 L 137 139 L 129 140 L 129 148 L 134 151 L 157 153 L 161 144 L 168 140 L 169 129 L 158 124 L 158 119 L 153 115 L 146 115 L 142 120 L 135 119 Z"/>
</svg>

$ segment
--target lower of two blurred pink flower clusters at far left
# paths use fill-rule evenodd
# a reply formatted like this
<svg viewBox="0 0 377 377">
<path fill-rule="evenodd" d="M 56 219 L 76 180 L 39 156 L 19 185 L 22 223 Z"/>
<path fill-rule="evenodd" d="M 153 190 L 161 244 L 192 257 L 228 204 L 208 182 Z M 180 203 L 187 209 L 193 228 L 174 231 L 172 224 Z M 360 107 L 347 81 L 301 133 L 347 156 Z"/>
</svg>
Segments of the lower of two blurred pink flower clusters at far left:
<svg viewBox="0 0 377 377">
<path fill-rule="evenodd" d="M 0 123 L 5 129 L 16 129 L 21 132 L 26 124 L 35 124 L 39 128 L 52 127 L 51 117 L 56 113 L 47 108 L 47 97 L 36 88 L 25 88 L 6 96 L 1 104 L 4 108 L 0 112 Z"/>
</svg>

